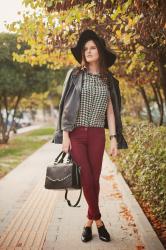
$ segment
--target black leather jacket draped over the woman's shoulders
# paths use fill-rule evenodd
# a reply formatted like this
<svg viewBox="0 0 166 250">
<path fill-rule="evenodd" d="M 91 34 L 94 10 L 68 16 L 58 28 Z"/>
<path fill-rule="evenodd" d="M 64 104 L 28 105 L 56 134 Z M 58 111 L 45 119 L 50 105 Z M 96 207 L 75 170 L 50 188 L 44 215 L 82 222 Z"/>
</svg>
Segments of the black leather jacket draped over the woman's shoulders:
<svg viewBox="0 0 166 250">
<path fill-rule="evenodd" d="M 59 115 L 57 128 L 52 140 L 53 143 L 61 144 L 63 140 L 63 130 L 72 131 L 77 118 L 80 105 L 81 86 L 84 71 L 79 68 L 72 68 L 67 72 L 64 82 L 63 93 L 59 104 Z M 127 142 L 122 134 L 121 121 L 121 95 L 119 89 L 119 81 L 109 73 L 109 90 L 112 100 L 118 149 L 128 148 Z M 105 115 L 105 128 L 108 129 L 107 115 Z"/>
</svg>

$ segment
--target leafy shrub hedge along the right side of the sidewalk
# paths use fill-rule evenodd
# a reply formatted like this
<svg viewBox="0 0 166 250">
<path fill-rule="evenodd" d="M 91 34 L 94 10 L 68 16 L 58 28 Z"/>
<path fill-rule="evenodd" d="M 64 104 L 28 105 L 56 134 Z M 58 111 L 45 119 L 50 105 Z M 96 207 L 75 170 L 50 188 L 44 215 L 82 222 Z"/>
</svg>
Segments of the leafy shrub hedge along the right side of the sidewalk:
<svg viewBox="0 0 166 250">
<path fill-rule="evenodd" d="M 166 127 L 123 118 L 128 149 L 115 159 L 131 190 L 166 222 Z"/>
</svg>

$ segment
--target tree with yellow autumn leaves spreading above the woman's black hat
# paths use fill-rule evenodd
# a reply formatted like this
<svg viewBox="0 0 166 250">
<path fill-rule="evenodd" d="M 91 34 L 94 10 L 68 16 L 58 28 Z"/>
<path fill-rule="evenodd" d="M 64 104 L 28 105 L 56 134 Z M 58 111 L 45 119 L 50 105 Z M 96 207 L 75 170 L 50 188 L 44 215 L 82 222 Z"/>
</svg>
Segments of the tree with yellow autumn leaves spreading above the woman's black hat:
<svg viewBox="0 0 166 250">
<path fill-rule="evenodd" d="M 147 84 L 146 79 L 142 81 L 146 73 L 155 74 L 153 84 L 162 90 L 166 101 L 165 0 L 23 2 L 31 6 L 32 14 L 25 14 L 23 22 L 8 26 L 18 33 L 18 42 L 26 41 L 29 45 L 24 55 L 14 55 L 18 61 L 47 64 L 51 68 L 69 66 L 75 61 L 68 48 L 75 45 L 79 33 L 88 27 L 97 31 L 116 52 L 118 60 L 112 71 L 117 76 L 122 77 L 123 72 L 125 79 L 135 87 L 140 85 L 142 90 Z M 141 81 L 136 82 L 133 76 L 140 76 Z"/>
</svg>

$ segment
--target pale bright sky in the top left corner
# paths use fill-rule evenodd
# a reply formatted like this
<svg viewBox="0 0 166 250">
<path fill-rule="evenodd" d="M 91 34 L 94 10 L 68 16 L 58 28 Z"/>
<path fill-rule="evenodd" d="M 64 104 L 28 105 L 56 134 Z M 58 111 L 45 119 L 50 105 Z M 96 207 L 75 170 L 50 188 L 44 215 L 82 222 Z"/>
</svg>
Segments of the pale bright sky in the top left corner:
<svg viewBox="0 0 166 250">
<path fill-rule="evenodd" d="M 0 0 L 0 32 L 7 31 L 4 21 L 11 23 L 20 20 L 19 11 L 25 10 L 22 0 Z"/>
</svg>

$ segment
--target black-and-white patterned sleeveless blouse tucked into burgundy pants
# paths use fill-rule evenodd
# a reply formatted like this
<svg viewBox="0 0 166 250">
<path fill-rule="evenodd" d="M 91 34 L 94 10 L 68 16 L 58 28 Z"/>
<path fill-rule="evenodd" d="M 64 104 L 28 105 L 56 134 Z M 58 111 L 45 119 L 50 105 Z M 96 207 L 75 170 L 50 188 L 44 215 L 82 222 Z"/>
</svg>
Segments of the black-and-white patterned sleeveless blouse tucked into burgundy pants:
<svg viewBox="0 0 166 250">
<path fill-rule="evenodd" d="M 110 92 L 99 74 L 85 71 L 75 127 L 104 127 Z"/>
</svg>

